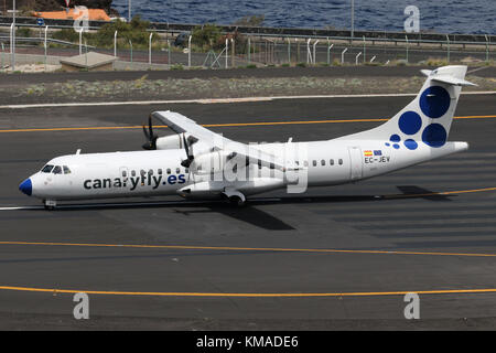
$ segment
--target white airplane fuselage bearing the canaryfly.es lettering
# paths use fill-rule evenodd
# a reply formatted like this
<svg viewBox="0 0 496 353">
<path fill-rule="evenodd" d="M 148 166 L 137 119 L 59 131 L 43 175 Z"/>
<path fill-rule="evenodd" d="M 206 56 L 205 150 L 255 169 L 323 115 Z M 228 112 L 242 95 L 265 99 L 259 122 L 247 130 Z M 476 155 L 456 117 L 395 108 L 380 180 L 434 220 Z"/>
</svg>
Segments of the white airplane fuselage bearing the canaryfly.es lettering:
<svg viewBox="0 0 496 353">
<path fill-rule="evenodd" d="M 181 165 L 182 149 L 88 153 L 57 157 L 51 165 L 66 167 L 67 173 L 37 172 L 30 176 L 32 195 L 43 200 L 85 200 L 181 194 L 187 185 L 207 185 L 191 196 L 219 196 L 230 188 L 245 195 L 301 184 L 336 185 L 385 174 L 438 157 L 467 149 L 465 142 L 448 142 L 442 148 L 420 146 L 416 150 L 395 149 L 379 140 L 325 140 L 266 143 L 270 152 L 299 170 L 280 171 L 250 164 L 246 180 L 211 181 L 212 175 L 193 174 Z M 298 152 L 296 152 L 298 151 Z M 218 178 L 218 175 L 217 175 Z"/>
</svg>

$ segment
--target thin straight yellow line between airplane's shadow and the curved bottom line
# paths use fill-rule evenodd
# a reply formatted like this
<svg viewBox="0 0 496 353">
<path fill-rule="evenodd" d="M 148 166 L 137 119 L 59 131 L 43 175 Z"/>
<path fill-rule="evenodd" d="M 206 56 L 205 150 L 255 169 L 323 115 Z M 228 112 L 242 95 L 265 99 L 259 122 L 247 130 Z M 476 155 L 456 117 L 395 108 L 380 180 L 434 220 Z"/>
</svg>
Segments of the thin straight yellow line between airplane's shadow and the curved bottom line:
<svg viewBox="0 0 496 353">
<path fill-rule="evenodd" d="M 278 247 L 233 247 L 233 246 L 193 246 L 193 245 L 140 245 L 140 244 L 103 244 L 103 243 L 54 243 L 54 242 L 0 242 L 0 245 L 36 245 L 36 246 L 76 246 L 76 247 L 112 247 L 144 248 L 172 250 L 233 250 L 233 252 L 280 252 L 280 253 L 322 253 L 322 254 L 384 254 L 384 255 L 430 255 L 430 256 L 466 256 L 496 257 L 496 254 L 477 253 L 436 253 L 436 252 L 395 252 L 395 250 L 345 250 L 345 249 L 298 249 Z"/>
</svg>

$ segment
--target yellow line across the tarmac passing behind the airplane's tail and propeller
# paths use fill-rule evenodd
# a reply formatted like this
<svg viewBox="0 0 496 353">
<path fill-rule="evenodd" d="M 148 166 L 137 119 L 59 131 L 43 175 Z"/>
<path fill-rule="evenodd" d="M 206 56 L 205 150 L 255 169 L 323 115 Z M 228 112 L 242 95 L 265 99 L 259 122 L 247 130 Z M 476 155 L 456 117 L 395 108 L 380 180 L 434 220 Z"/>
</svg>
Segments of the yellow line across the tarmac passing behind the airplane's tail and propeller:
<svg viewBox="0 0 496 353">
<path fill-rule="evenodd" d="M 464 116 L 454 117 L 454 119 L 492 119 L 496 115 L 484 116 Z M 310 125 L 310 124 L 343 124 L 343 122 L 381 122 L 389 119 L 327 119 L 327 120 L 294 120 L 294 121 L 261 121 L 261 122 L 230 122 L 230 124 L 204 124 L 203 127 L 244 127 L 244 126 L 278 126 L 278 125 Z M 165 125 L 154 126 L 157 128 L 166 128 Z M 33 129 L 4 129 L 0 132 L 42 132 L 42 131 L 84 131 L 84 130 L 120 130 L 120 129 L 141 129 L 142 126 L 99 126 L 99 127 L 75 127 L 75 128 L 33 128 Z"/>
</svg>

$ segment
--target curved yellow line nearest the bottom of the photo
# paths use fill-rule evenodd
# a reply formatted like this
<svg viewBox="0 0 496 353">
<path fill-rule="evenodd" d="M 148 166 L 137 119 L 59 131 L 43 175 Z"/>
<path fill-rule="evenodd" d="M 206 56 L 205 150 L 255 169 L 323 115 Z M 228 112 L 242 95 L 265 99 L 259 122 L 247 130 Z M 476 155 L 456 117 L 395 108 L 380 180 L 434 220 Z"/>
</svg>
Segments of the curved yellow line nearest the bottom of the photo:
<svg viewBox="0 0 496 353">
<path fill-rule="evenodd" d="M 215 292 L 163 292 L 163 291 L 106 291 L 85 289 L 58 289 L 58 288 L 32 288 L 0 286 L 0 290 L 17 290 L 30 292 L 50 293 L 79 293 L 107 295 L 107 296 L 149 296 L 149 297 L 240 297 L 240 298 L 315 298 L 315 297 L 379 297 L 379 296 L 405 296 L 407 293 L 418 295 L 467 295 L 467 293 L 494 293 L 496 288 L 483 289 L 448 289 L 448 290 L 401 290 L 401 291 L 370 291 L 370 292 L 322 292 L 322 293 L 215 293 Z"/>
</svg>

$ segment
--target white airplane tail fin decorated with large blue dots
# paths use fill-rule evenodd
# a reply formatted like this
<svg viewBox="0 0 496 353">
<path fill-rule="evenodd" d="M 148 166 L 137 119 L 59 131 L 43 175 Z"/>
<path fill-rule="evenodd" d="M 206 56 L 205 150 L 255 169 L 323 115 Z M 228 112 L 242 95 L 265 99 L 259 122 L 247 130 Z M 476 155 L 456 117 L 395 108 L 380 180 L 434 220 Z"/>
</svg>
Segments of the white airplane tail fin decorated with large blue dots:
<svg viewBox="0 0 496 353">
<path fill-rule="evenodd" d="M 408 106 L 379 127 L 339 140 L 381 140 L 397 149 L 420 143 L 432 148 L 444 146 L 462 86 L 474 85 L 465 81 L 466 69 L 466 66 L 422 69 L 428 78 Z"/>
</svg>

